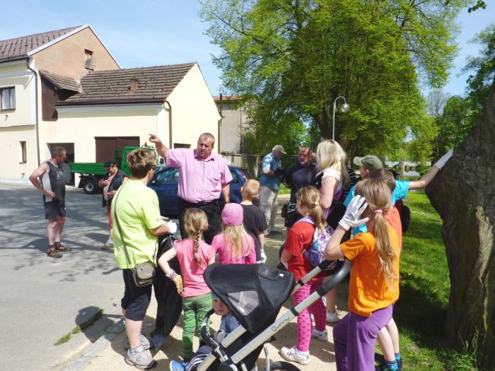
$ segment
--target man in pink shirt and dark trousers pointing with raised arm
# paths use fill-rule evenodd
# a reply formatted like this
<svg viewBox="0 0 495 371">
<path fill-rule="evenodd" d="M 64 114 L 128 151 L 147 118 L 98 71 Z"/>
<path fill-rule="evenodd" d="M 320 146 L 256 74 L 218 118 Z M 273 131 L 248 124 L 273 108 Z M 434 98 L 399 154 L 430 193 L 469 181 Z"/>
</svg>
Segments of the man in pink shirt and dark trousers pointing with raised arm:
<svg viewBox="0 0 495 371">
<path fill-rule="evenodd" d="M 187 208 L 201 208 L 208 218 L 209 228 L 204 240 L 211 244 L 213 237 L 221 231 L 220 194 L 229 202 L 232 180 L 231 171 L 223 157 L 212 153 L 215 137 L 203 133 L 197 141 L 197 148 L 167 148 L 156 134 L 150 134 L 149 141 L 155 143 L 156 152 L 165 158 L 165 165 L 179 168 L 178 212 L 180 235 L 187 237 L 184 229 L 184 212 Z"/>
</svg>

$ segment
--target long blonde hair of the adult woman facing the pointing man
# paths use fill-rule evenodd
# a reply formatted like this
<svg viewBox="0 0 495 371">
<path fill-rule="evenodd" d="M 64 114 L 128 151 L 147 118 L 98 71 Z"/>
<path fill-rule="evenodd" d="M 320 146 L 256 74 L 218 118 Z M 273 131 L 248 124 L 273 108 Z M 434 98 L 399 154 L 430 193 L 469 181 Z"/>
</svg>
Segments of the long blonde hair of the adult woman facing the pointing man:
<svg viewBox="0 0 495 371">
<path fill-rule="evenodd" d="M 320 141 L 316 148 L 316 163 L 318 175 L 323 170 L 333 169 L 340 173 L 344 187 L 349 184 L 349 174 L 346 168 L 347 155 L 337 141 L 327 139 Z"/>
</svg>

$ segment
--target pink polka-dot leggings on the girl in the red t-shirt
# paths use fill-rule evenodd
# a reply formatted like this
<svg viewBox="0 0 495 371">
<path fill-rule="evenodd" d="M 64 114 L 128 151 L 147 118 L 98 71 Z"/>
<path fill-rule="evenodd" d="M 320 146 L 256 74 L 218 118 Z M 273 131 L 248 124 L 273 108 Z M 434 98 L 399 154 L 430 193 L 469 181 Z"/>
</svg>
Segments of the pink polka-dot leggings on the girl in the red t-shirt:
<svg viewBox="0 0 495 371">
<path fill-rule="evenodd" d="M 300 302 L 308 298 L 309 295 L 315 292 L 323 283 L 323 278 L 318 278 L 315 281 L 310 281 L 303 285 L 296 293 L 293 293 L 292 298 L 294 300 L 294 305 L 298 305 Z M 297 317 L 297 348 L 298 351 L 307 352 L 309 351 L 309 343 L 311 340 L 311 329 L 313 324 L 311 323 L 310 313 L 313 313 L 315 317 L 315 327 L 319 331 L 325 330 L 327 323 L 327 312 L 325 310 L 325 305 L 320 299 L 313 302 L 312 305 L 307 307 Z"/>
</svg>

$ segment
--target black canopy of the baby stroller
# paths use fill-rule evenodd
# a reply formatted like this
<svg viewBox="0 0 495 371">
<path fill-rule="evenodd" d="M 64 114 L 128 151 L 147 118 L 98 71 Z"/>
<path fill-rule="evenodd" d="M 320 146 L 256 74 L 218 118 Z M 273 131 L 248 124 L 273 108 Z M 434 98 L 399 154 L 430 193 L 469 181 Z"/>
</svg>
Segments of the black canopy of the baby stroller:
<svg viewBox="0 0 495 371">
<path fill-rule="evenodd" d="M 211 264 L 204 281 L 250 332 L 279 312 L 296 284 L 293 273 L 265 264 Z"/>
</svg>

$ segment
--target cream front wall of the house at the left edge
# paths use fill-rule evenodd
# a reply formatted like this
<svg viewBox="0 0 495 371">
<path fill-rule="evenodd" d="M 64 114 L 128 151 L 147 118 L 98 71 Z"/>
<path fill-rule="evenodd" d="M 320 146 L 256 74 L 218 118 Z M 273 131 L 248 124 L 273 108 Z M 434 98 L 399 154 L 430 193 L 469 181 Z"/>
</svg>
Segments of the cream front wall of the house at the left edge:
<svg viewBox="0 0 495 371">
<path fill-rule="evenodd" d="M 37 167 L 35 126 L 35 77 L 25 61 L 0 64 L 0 88 L 16 89 L 16 108 L 0 111 L 0 148 L 4 165 L 2 179 L 26 179 Z M 21 142 L 26 156 L 22 161 Z"/>
</svg>

